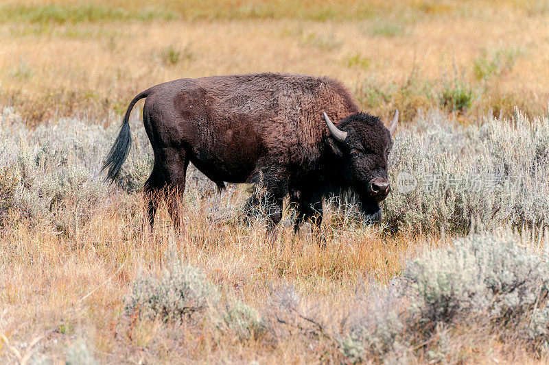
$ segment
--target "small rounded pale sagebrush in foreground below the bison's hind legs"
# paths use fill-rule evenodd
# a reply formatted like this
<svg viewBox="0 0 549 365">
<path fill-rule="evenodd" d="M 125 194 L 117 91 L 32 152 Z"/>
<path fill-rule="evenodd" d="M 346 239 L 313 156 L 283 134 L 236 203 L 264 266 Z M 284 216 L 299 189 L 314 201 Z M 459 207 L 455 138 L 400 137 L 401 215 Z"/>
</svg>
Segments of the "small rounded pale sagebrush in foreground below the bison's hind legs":
<svg viewBox="0 0 549 365">
<path fill-rule="evenodd" d="M 125 308 L 126 313 L 142 318 L 178 321 L 205 312 L 219 299 L 217 288 L 198 269 L 174 261 L 160 277 L 138 277 L 126 297 Z"/>
</svg>

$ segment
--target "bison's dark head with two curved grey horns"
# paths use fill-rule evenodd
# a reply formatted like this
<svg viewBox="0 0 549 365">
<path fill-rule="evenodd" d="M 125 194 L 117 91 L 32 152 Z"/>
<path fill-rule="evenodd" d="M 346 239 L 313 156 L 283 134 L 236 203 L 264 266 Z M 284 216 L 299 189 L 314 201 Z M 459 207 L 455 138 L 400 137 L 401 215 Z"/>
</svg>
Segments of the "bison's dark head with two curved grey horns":
<svg viewBox="0 0 549 365">
<path fill-rule="evenodd" d="M 354 114 L 337 127 L 326 113 L 324 118 L 330 132 L 327 142 L 342 160 L 342 185 L 358 193 L 368 220 L 379 223 L 382 218 L 379 202 L 390 192 L 387 159 L 393 147 L 391 138 L 397 130 L 398 110 L 389 127 L 370 114 Z"/>
</svg>

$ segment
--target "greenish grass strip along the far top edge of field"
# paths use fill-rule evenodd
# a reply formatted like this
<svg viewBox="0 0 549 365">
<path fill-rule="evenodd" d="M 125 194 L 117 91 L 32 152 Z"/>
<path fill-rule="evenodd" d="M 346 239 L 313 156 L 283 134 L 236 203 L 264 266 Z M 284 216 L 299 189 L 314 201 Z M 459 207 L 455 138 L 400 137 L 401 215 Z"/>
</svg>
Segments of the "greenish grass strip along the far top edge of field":
<svg viewBox="0 0 549 365">
<path fill-rule="evenodd" d="M 439 3 L 420 1 L 417 4 L 380 1 L 319 1 L 319 0 L 161 0 L 145 3 L 137 0 L 115 2 L 89 1 L 84 3 L 49 3 L 25 5 L 12 1 L 0 5 L 0 23 L 79 23 L 101 21 L 152 21 L 197 19 L 280 19 L 293 18 L 308 21 L 361 21 L 386 19 L 388 16 L 424 18 L 432 15 L 464 16 L 474 6 L 472 0 Z M 153 5 L 151 5 L 153 4 Z M 537 8 L 526 8 L 530 14 Z M 399 36 L 399 24 L 380 23 L 373 29 L 378 36 Z"/>
</svg>

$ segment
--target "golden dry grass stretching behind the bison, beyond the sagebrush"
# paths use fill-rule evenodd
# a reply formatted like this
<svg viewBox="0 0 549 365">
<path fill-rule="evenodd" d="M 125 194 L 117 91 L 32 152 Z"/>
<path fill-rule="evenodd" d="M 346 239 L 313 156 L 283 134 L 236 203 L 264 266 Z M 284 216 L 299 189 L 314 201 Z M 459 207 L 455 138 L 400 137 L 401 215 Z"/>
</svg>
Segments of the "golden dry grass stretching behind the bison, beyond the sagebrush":
<svg viewBox="0 0 549 365">
<path fill-rule="evenodd" d="M 491 109 L 509 114 L 514 105 L 539 114 L 548 99 L 549 13 L 536 1 L 497 8 L 491 1 L 169 1 L 144 9 L 99 1 L 95 16 L 83 2 L 51 3 L 11 2 L 0 21 L 1 99 L 33 124 L 58 114 L 105 118 L 162 81 L 255 71 L 338 77 L 365 110 L 383 116 L 395 105 L 407 118 L 445 105 L 441 95 L 456 79 L 471 91 L 469 108 L 458 110 L 467 121 Z M 309 8 L 327 15 L 306 16 Z M 137 14 L 160 10 L 173 18 Z M 507 66 L 478 77 L 478 64 L 511 53 Z"/>
</svg>

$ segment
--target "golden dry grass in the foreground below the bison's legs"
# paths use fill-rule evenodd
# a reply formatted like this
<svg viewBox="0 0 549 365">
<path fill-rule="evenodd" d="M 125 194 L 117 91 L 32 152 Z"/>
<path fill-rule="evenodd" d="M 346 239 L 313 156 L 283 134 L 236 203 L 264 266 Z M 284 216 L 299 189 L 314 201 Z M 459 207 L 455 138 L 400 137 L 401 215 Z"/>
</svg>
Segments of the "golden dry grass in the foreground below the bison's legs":
<svg viewBox="0 0 549 365">
<path fill-rule="evenodd" d="M 109 209 L 97 212 L 71 239 L 52 233 L 47 226 L 30 228 L 25 223 L 3 232 L 1 333 L 19 351 L 24 353 L 25 344 L 40 336 L 29 350 L 35 357 L 47 353 L 62 359 L 65 347 L 75 338 L 85 338 L 97 360 L 111 363 L 141 359 L 169 363 L 181 361 L 182 356 L 207 362 L 219 358 L 311 362 L 318 351 L 292 337 L 273 347 L 265 339 L 220 340 L 208 329 L 146 320 L 136 323 L 122 313 L 124 296 L 140 271 L 156 272 L 163 262 L 172 260 L 167 258 L 171 252 L 249 305 L 264 307 L 268 286 L 293 284 L 307 300 L 330 310 L 345 307 L 349 295 L 369 276 L 388 281 L 403 260 L 425 244 L 424 238 L 388 238 L 375 231 L 362 231 L 358 237 L 337 229 L 325 250 L 319 250 L 307 234 L 295 240 L 293 249 L 288 238 L 285 244 L 270 247 L 263 242 L 261 225 L 224 223 L 212 229 L 201 207 L 187 210 L 192 224 L 182 238 L 174 236 L 162 212 L 152 243 L 128 221 L 132 212 L 120 210 L 120 205 L 114 201 Z M 289 236 L 290 231 L 283 234 Z M 174 342 L 170 331 L 182 336 L 184 344 Z M 0 344 L 0 359 L 14 360 L 14 354 Z"/>
</svg>

